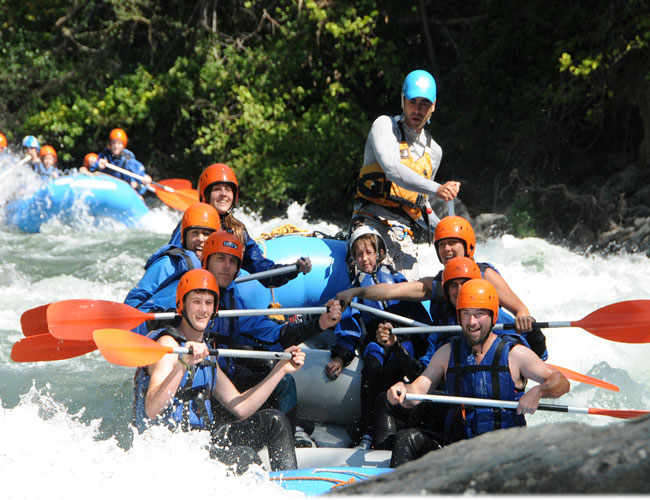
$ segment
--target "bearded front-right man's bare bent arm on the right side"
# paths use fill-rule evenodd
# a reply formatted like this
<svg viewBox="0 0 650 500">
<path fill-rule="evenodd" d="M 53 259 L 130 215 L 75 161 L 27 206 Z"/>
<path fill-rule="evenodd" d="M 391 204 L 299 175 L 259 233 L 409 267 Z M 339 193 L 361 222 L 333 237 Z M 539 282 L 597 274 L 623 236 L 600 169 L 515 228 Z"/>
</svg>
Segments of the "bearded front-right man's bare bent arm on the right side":
<svg viewBox="0 0 650 500">
<path fill-rule="evenodd" d="M 541 398 L 559 398 L 569 392 L 569 381 L 557 370 L 552 370 L 533 351 L 522 345 L 512 348 L 508 356 L 510 375 L 515 383 L 524 379 L 539 382 L 519 400 L 517 413 L 535 413 Z"/>
</svg>

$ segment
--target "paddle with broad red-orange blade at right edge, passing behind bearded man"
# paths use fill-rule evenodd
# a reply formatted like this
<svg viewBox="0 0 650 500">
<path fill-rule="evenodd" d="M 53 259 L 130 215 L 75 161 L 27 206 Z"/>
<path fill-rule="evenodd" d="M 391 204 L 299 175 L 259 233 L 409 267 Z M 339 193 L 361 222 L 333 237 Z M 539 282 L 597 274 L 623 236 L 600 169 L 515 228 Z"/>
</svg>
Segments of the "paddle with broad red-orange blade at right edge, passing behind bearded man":
<svg viewBox="0 0 650 500">
<path fill-rule="evenodd" d="M 514 329 L 510 323 L 496 324 L 496 329 Z M 535 322 L 534 328 L 582 328 L 613 342 L 628 344 L 650 343 L 650 300 L 627 300 L 601 307 L 579 321 Z M 394 328 L 396 335 L 433 332 L 460 332 L 459 326 L 427 326 Z"/>
</svg>

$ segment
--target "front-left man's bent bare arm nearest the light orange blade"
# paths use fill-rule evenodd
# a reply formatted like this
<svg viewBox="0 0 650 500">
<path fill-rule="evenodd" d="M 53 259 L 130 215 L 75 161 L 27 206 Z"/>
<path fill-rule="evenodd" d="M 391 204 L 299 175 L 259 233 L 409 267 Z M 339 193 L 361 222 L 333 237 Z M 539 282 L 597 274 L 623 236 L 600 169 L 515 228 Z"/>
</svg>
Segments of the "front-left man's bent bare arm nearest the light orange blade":
<svg viewBox="0 0 650 500">
<path fill-rule="evenodd" d="M 178 347 L 178 342 L 169 335 L 161 337 L 158 343 L 168 347 Z M 195 365 L 208 355 L 208 348 L 203 343 L 187 342 L 187 347 L 191 347 L 193 351 L 192 354 L 182 356 L 187 364 Z M 147 417 L 156 417 L 169 406 L 176 394 L 185 374 L 185 366 L 179 360 L 180 357 L 177 354 L 165 354 L 160 361 L 147 368 L 151 377 L 144 400 Z"/>
</svg>

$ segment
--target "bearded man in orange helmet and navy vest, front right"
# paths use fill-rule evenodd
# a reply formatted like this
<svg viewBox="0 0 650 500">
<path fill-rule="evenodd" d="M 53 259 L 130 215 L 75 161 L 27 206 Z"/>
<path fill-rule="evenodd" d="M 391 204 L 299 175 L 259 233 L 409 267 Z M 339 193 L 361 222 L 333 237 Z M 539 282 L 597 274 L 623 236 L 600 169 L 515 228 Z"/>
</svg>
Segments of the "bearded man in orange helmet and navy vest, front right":
<svg viewBox="0 0 650 500">
<path fill-rule="evenodd" d="M 462 335 L 442 346 L 413 383 L 398 382 L 392 386 L 386 393 L 388 401 L 413 407 L 418 402 L 406 400 L 407 394 L 428 394 L 444 382 L 446 394 L 450 396 L 518 401 L 517 409 L 455 407 L 455 411 L 448 413 L 443 436 L 422 428 L 399 431 L 391 467 L 419 458 L 448 442 L 524 426 L 524 415 L 535 413 L 541 398 L 559 398 L 569 391 L 564 375 L 551 370 L 527 347 L 492 331 L 499 313 L 499 296 L 489 282 L 473 279 L 464 283 L 456 311 Z M 539 385 L 525 392 L 529 379 Z"/>
</svg>

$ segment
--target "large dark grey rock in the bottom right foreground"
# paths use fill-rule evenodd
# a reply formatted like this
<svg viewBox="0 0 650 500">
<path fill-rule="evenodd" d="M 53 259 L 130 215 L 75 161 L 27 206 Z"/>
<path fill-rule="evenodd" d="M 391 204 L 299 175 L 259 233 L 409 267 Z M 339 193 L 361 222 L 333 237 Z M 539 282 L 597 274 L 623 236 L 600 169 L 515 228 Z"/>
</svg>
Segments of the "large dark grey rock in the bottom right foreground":
<svg viewBox="0 0 650 500">
<path fill-rule="evenodd" d="M 332 494 L 648 493 L 649 457 L 650 417 L 546 424 L 462 441 Z"/>
</svg>

